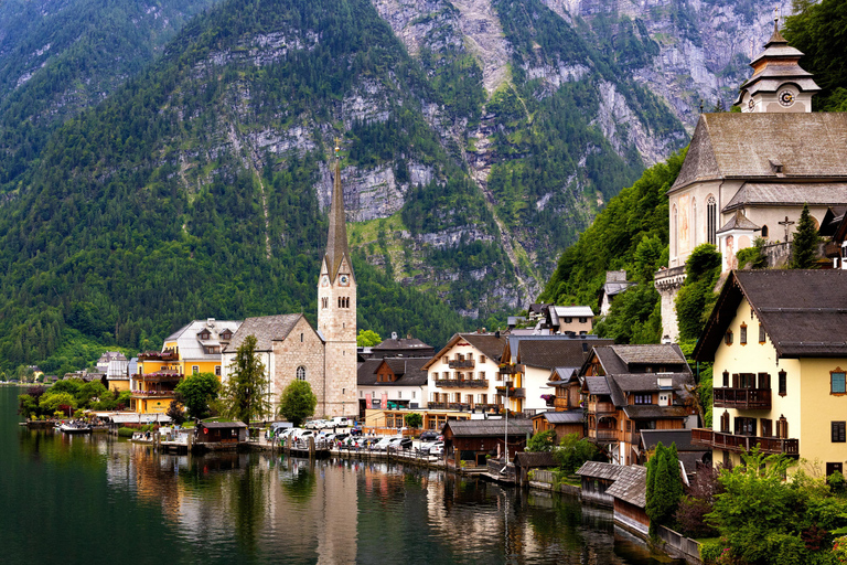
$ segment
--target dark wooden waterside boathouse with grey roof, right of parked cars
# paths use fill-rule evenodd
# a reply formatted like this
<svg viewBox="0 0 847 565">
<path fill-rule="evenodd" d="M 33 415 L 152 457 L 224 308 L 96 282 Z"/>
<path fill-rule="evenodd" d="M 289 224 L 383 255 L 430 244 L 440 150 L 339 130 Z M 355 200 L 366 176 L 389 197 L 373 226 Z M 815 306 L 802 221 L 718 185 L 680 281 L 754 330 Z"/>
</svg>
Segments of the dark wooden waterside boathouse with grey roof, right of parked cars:
<svg viewBox="0 0 847 565">
<path fill-rule="evenodd" d="M 454 468 L 461 465 L 460 461 L 470 461 L 483 467 L 485 456 L 496 457 L 503 451 L 506 437 L 508 452 L 514 455 L 524 450 L 532 433 L 533 423 L 524 418 L 510 418 L 507 424 L 505 419 L 449 420 L 442 431 L 447 465 Z"/>
</svg>

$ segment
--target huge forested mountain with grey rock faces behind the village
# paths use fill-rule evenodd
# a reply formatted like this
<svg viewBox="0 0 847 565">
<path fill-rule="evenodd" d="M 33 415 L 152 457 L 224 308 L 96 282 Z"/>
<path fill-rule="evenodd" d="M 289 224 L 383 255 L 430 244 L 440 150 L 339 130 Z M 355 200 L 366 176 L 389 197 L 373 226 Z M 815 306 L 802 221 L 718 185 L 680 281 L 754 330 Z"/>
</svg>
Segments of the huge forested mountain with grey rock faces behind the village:
<svg viewBox="0 0 847 565">
<path fill-rule="evenodd" d="M 93 2 L 33 6 L 108 29 Z M 148 21 L 108 6 L 118 29 Z M 469 326 L 450 310 L 525 306 L 597 211 L 687 141 L 687 114 L 636 72 L 656 38 L 636 57 L 604 39 L 625 14 L 587 6 L 225 0 L 135 66 L 12 88 L 54 52 L 20 20 L 9 44 L 29 63 L 0 81 L 3 364 L 71 359 L 68 337 L 156 347 L 191 318 L 313 311 L 335 138 L 363 327 L 437 344 Z M 689 25 L 668 10 L 648 15 Z M 26 88 L 49 111 L 11 109 Z"/>
</svg>

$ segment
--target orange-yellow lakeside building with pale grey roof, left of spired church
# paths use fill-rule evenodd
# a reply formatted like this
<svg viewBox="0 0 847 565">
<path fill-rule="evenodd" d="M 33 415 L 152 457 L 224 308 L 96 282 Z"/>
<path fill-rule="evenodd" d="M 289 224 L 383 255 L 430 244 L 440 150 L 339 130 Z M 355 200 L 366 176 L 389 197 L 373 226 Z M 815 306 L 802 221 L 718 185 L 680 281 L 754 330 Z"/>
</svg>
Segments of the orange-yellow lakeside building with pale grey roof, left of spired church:
<svg viewBox="0 0 847 565">
<path fill-rule="evenodd" d="M 194 320 L 164 340 L 162 351 L 138 355 L 132 375 L 130 409 L 140 414 L 164 413 L 175 398 L 174 388 L 185 375 L 214 373 L 221 377 L 221 350 L 238 330 L 239 321 L 214 318 Z"/>
</svg>

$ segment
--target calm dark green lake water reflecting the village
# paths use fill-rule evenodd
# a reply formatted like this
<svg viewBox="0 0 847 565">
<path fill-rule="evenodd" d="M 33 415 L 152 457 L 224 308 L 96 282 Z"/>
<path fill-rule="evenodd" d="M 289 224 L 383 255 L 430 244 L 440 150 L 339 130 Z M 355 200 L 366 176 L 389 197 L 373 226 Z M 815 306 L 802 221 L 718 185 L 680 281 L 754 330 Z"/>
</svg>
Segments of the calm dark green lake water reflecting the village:
<svg viewBox="0 0 847 565">
<path fill-rule="evenodd" d="M 576 499 L 399 465 L 171 456 L 18 426 L 0 387 L 0 562 L 673 564 Z"/>
</svg>

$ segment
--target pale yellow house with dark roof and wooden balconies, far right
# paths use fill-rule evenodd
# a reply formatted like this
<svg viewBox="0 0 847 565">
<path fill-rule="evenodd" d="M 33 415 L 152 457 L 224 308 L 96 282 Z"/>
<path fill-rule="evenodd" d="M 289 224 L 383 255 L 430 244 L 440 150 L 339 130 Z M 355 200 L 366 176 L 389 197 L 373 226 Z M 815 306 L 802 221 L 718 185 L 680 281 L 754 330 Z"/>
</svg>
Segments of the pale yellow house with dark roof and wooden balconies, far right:
<svg viewBox="0 0 847 565">
<path fill-rule="evenodd" d="M 758 445 L 844 472 L 846 271 L 731 271 L 694 355 L 715 363 L 712 429 L 693 438 L 715 465 Z"/>
</svg>

